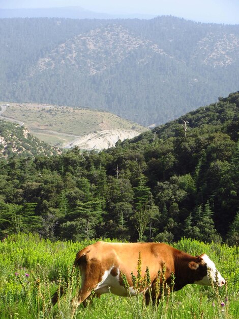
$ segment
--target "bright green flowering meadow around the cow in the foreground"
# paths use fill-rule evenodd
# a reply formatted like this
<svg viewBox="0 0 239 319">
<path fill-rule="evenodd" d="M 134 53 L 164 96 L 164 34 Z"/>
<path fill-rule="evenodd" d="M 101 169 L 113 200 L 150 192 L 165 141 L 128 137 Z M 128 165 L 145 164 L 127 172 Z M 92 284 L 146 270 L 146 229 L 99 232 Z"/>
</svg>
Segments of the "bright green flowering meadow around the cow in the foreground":
<svg viewBox="0 0 239 319">
<path fill-rule="evenodd" d="M 0 318 L 70 318 L 70 300 L 80 285 L 77 270 L 71 274 L 72 263 L 76 252 L 92 243 L 52 243 L 33 234 L 5 238 L 0 243 Z M 158 307 L 142 306 L 142 295 L 102 295 L 87 308 L 80 306 L 74 318 L 238 318 L 238 248 L 187 239 L 174 247 L 193 255 L 208 254 L 227 284 L 222 288 L 188 285 L 165 296 Z M 67 293 L 52 307 L 49 298 L 59 282 Z"/>
</svg>

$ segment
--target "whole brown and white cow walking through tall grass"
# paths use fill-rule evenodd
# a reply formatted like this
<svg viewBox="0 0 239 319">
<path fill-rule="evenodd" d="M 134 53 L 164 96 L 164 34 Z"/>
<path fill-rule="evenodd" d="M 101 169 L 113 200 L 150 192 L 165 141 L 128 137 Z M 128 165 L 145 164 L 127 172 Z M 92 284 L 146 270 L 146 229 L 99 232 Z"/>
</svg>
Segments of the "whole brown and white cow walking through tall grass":
<svg viewBox="0 0 239 319">
<path fill-rule="evenodd" d="M 85 305 L 92 290 L 97 296 L 107 293 L 129 296 L 129 291 L 130 295 L 134 296 L 136 292 L 131 272 L 137 275 L 139 253 L 142 262 L 141 277 L 148 267 L 153 298 L 157 274 L 159 270 L 162 271 L 164 265 L 165 283 L 170 286 L 171 273 L 175 275 L 173 287 L 175 291 L 191 283 L 210 286 L 213 281 L 220 287 L 225 284 L 225 279 L 217 272 L 214 262 L 205 254 L 194 257 L 162 243 L 97 242 L 85 247 L 76 255 L 74 265 L 79 267 L 81 272 L 81 288 L 77 296 L 72 299 L 73 314 L 80 303 Z M 130 286 L 128 291 L 125 289 L 122 274 L 128 280 Z M 147 289 L 148 287 L 145 290 Z M 52 299 L 53 303 L 56 301 L 57 294 Z"/>
</svg>

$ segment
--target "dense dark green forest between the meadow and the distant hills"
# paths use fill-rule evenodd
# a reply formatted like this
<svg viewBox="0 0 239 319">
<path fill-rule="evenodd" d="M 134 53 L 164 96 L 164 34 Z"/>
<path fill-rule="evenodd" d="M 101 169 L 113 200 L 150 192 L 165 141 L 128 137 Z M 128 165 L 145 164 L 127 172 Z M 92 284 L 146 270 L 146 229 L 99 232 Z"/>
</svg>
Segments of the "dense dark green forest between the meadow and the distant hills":
<svg viewBox="0 0 239 319">
<path fill-rule="evenodd" d="M 239 92 L 100 153 L 0 160 L 1 237 L 238 242 Z"/>
</svg>

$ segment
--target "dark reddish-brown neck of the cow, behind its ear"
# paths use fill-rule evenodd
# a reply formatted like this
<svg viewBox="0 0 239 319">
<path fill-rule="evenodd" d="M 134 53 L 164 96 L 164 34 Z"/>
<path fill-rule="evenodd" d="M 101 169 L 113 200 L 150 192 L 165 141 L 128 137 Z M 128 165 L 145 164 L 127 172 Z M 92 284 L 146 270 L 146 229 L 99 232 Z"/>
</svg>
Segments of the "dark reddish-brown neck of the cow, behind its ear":
<svg viewBox="0 0 239 319">
<path fill-rule="evenodd" d="M 189 268 L 190 261 L 196 261 L 197 257 L 180 252 L 174 257 L 175 285 L 174 290 L 180 290 L 190 283 L 194 283 L 193 271 Z"/>
</svg>

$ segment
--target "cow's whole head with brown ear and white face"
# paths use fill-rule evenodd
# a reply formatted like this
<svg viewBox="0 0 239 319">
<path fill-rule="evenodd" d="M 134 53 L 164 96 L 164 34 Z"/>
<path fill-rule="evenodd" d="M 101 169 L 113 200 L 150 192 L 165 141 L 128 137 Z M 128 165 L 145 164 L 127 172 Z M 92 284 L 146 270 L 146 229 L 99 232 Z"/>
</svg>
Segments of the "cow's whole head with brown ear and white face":
<svg viewBox="0 0 239 319">
<path fill-rule="evenodd" d="M 215 263 L 205 254 L 197 257 L 196 261 L 189 262 L 189 268 L 195 271 L 194 283 L 203 286 L 211 286 L 212 282 L 222 287 L 225 279 L 217 271 Z"/>
</svg>

